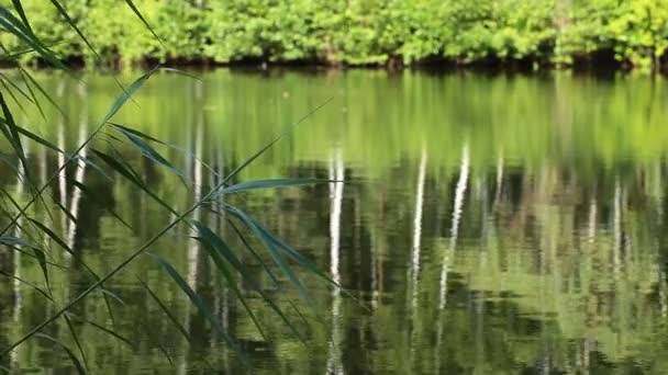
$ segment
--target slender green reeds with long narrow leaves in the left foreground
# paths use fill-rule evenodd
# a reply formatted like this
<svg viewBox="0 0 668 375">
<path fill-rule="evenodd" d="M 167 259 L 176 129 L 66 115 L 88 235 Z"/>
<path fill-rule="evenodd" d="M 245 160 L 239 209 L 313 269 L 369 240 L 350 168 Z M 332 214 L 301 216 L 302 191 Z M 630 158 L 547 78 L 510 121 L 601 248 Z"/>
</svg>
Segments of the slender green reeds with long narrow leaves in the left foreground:
<svg viewBox="0 0 668 375">
<path fill-rule="evenodd" d="M 79 27 L 77 27 L 74 19 L 67 13 L 66 7 L 58 0 L 51 0 L 51 2 L 55 10 L 60 13 L 65 22 L 91 49 L 93 55 L 99 56 L 92 45 L 86 38 L 86 35 L 79 30 Z M 125 3 L 137 15 L 141 22 L 143 22 L 145 26 L 148 27 L 155 35 L 155 32 L 153 32 L 153 29 L 151 29 L 149 23 L 142 15 L 138 8 L 135 7 L 131 0 L 125 0 Z M 7 224 L 0 228 L 0 245 L 5 248 L 5 251 L 14 251 L 22 255 L 29 257 L 31 261 L 37 262 L 40 269 L 42 270 L 43 282 L 35 284 L 11 273 L 3 275 L 38 292 L 40 295 L 51 305 L 51 308 L 49 315 L 44 321 L 34 326 L 27 332 L 20 333 L 20 337 L 10 342 L 8 346 L 0 348 L 0 356 L 10 355 L 15 348 L 21 345 L 26 340 L 45 340 L 62 348 L 71 361 L 74 367 L 79 373 L 85 373 L 90 368 L 90 364 L 87 360 L 87 354 L 82 348 L 81 340 L 78 337 L 75 323 L 89 325 L 100 330 L 104 334 L 109 334 L 110 337 L 113 337 L 127 345 L 135 345 L 135 343 L 124 338 L 114 329 L 114 306 L 118 304 L 124 304 L 123 295 L 108 289 L 105 284 L 112 277 L 119 275 L 123 271 L 126 271 L 129 265 L 135 259 L 147 254 L 155 260 L 156 268 L 159 268 L 165 272 L 166 275 L 169 276 L 169 279 L 197 308 L 197 311 L 209 321 L 212 330 L 215 331 L 220 338 L 222 338 L 229 348 L 232 348 L 236 352 L 238 360 L 244 362 L 245 357 L 243 350 L 240 348 L 235 338 L 226 331 L 225 327 L 223 327 L 223 325 L 221 325 L 221 322 L 213 315 L 211 308 L 205 303 L 205 298 L 198 295 L 198 293 L 189 285 L 188 281 L 186 281 L 177 269 L 159 254 L 159 250 L 154 248 L 158 240 L 169 236 L 172 229 L 177 226 L 187 227 L 192 234 L 192 239 L 205 250 L 212 263 L 215 265 L 215 270 L 220 273 L 221 280 L 226 284 L 233 295 L 241 303 L 263 337 L 266 338 L 266 334 L 254 314 L 254 308 L 248 305 L 244 294 L 237 287 L 237 283 L 240 281 L 243 281 L 245 284 L 249 285 L 250 289 L 256 292 L 263 298 L 263 300 L 276 314 L 276 316 L 280 318 L 280 320 L 283 321 L 296 336 L 300 337 L 301 333 L 294 327 L 290 317 L 288 317 L 281 307 L 279 307 L 279 305 L 274 300 L 274 297 L 265 293 L 263 287 L 258 285 L 250 276 L 248 270 L 246 270 L 244 263 L 240 259 L 237 251 L 233 250 L 231 241 L 223 238 L 223 236 L 221 236 L 214 228 L 199 220 L 196 215 L 193 215 L 200 209 L 208 209 L 214 215 L 224 215 L 225 223 L 230 226 L 230 228 L 233 229 L 231 232 L 237 237 L 238 242 L 243 243 L 246 250 L 259 261 L 264 271 L 277 287 L 277 276 L 270 271 L 269 265 L 266 264 L 266 261 L 263 260 L 263 258 L 252 247 L 250 241 L 248 238 L 246 238 L 247 234 L 254 236 L 255 240 L 264 247 L 268 257 L 274 261 L 278 270 L 280 270 L 282 275 L 286 276 L 287 280 L 289 280 L 289 282 L 300 292 L 300 295 L 304 300 L 310 302 L 311 297 L 308 288 L 297 276 L 293 271 L 293 265 L 291 264 L 297 264 L 318 275 L 320 279 L 336 285 L 336 282 L 331 280 L 324 273 L 320 272 L 311 260 L 271 234 L 256 218 L 252 217 L 241 207 L 232 205 L 229 200 L 225 200 L 225 196 L 231 194 L 240 195 L 247 191 L 257 189 L 300 186 L 327 181 L 318 179 L 277 179 L 235 183 L 235 178 L 240 172 L 248 167 L 255 159 L 263 156 L 287 132 L 290 132 L 291 127 L 296 124 L 292 124 L 292 126 L 288 127 L 286 133 L 276 137 L 264 148 L 249 156 L 234 170 L 225 175 L 219 175 L 219 181 L 213 185 L 213 188 L 211 188 L 207 193 L 202 194 L 202 192 L 199 191 L 201 186 L 196 186 L 197 182 L 188 181 L 186 173 L 176 168 L 172 162 L 170 162 L 165 156 L 163 156 L 163 154 L 160 154 L 160 151 L 158 151 L 159 148 L 177 147 L 168 145 L 130 126 L 114 122 L 114 116 L 116 113 L 129 101 L 134 101 L 133 95 L 144 84 L 146 84 L 151 77 L 156 72 L 164 71 L 190 76 L 176 69 L 155 67 L 136 78 L 127 87 L 123 87 L 122 83 L 114 78 L 121 89 L 121 93 L 111 103 L 110 109 L 100 120 L 97 127 L 94 127 L 89 135 L 80 137 L 80 143 L 74 151 L 67 152 L 60 145 L 55 145 L 38 134 L 33 133 L 29 126 L 20 125 L 13 115 L 13 110 L 11 109 L 12 106 L 15 105 L 16 107 L 25 111 L 25 105 L 33 105 L 46 120 L 42 107 L 42 101 L 46 100 L 49 102 L 49 105 L 54 105 L 56 107 L 58 105 L 56 100 L 54 100 L 47 93 L 47 91 L 40 86 L 37 80 L 35 80 L 31 73 L 21 66 L 21 63 L 18 59 L 19 55 L 26 53 L 37 54 L 37 56 L 51 67 L 64 70 L 69 75 L 73 75 L 73 72 L 68 66 L 64 64 L 51 49 L 51 46 L 46 45 L 37 35 L 33 33 L 30 26 L 29 18 L 23 10 L 22 0 L 12 0 L 12 5 L 13 9 L 0 5 L 0 29 L 4 33 L 13 35 L 24 46 L 24 49 L 8 50 L 4 48 L 4 46 L 0 46 L 3 50 L 2 59 L 14 65 L 18 71 L 18 75 L 11 77 L 4 73 L 0 76 L 0 82 L 2 82 L 3 86 L 3 89 L 0 91 L 0 106 L 2 111 L 2 117 L 0 118 L 0 132 L 2 133 L 3 139 L 11 148 L 11 155 L 4 156 L 2 161 L 7 166 L 16 170 L 21 179 L 22 190 L 26 194 L 27 201 L 23 202 L 23 195 L 14 196 L 8 191 L 1 191 L 3 195 L 3 200 L 1 202 L 2 221 L 5 221 Z M 155 35 L 155 37 L 159 39 L 157 35 Z M 13 104 L 11 105 L 10 102 L 8 102 L 10 99 L 13 101 Z M 322 105 L 313 109 L 313 111 L 305 114 L 301 121 L 309 117 L 313 112 L 318 111 L 326 103 L 323 103 Z M 35 144 L 35 147 L 43 148 L 49 152 L 56 152 L 58 155 L 58 168 L 51 177 L 46 178 L 45 182 L 42 184 L 37 183 L 32 175 L 33 173 L 31 172 L 31 162 L 26 157 L 26 146 L 29 143 Z M 135 170 L 132 163 L 129 160 L 125 160 L 121 154 L 118 152 L 116 148 L 121 145 L 129 145 L 136 149 L 144 159 L 155 163 L 166 173 L 170 173 L 176 179 L 180 180 L 182 185 L 189 191 L 194 193 L 197 190 L 198 192 L 193 194 L 193 203 L 185 209 L 179 209 L 177 204 L 168 202 L 168 200 L 156 193 L 152 186 L 146 183 L 145 179 Z M 13 160 L 16 161 L 14 162 Z M 74 249 L 69 238 L 66 235 L 59 234 L 59 231 L 54 227 L 54 217 L 56 215 L 64 215 L 67 220 L 76 223 L 77 214 L 73 213 L 70 208 L 56 200 L 53 200 L 53 203 L 47 202 L 51 197 L 48 194 L 45 194 L 49 190 L 54 189 L 55 183 L 58 182 L 59 179 L 65 178 L 66 169 L 68 167 L 78 168 L 79 170 L 82 170 L 84 167 L 90 167 L 90 170 L 101 174 L 105 179 L 113 180 L 114 178 L 122 178 L 126 180 L 134 188 L 136 188 L 137 191 L 142 192 L 145 196 L 148 196 L 158 206 L 160 206 L 162 209 L 168 212 L 172 219 L 142 246 L 131 251 L 118 265 L 111 268 L 110 271 L 104 274 L 96 272 L 93 266 L 87 264 L 81 254 Z M 82 179 L 76 178 L 74 181 L 70 181 L 70 183 L 81 194 L 93 197 L 93 201 L 99 198 L 96 197 L 98 194 L 92 189 L 86 186 Z M 46 213 L 46 218 L 41 219 L 31 216 L 31 213 L 34 211 L 33 208 L 37 206 Z M 110 209 L 110 215 L 126 226 L 129 230 L 134 230 L 131 225 L 129 225 L 112 209 Z M 80 268 L 73 270 L 68 269 L 66 265 L 59 264 L 57 262 L 58 257 L 55 257 L 55 254 L 59 252 L 70 257 L 76 264 L 80 265 Z M 92 283 L 80 293 L 62 300 L 63 298 L 58 298 L 55 293 L 56 287 L 53 285 L 54 272 L 85 272 L 91 277 Z M 179 320 L 176 318 L 175 312 L 170 310 L 169 306 L 160 299 L 160 297 L 148 286 L 148 284 L 146 284 L 144 280 L 142 280 L 142 277 L 137 277 L 137 282 L 138 285 L 145 289 L 147 296 L 149 296 L 149 300 L 158 305 L 164 311 L 164 318 L 172 323 L 188 341 L 191 341 L 189 332 L 183 329 Z M 102 296 L 105 309 L 108 310 L 112 322 L 111 328 L 99 322 L 87 320 L 85 317 L 78 316 L 73 311 L 73 307 L 93 293 Z M 63 319 L 68 327 L 69 333 L 71 334 L 71 342 L 74 343 L 73 345 L 63 342 L 58 338 L 46 332 L 46 328 L 59 319 Z M 169 354 L 160 345 L 160 343 L 157 342 L 155 344 L 169 359 Z M 169 361 L 171 362 L 170 359 Z"/>
</svg>

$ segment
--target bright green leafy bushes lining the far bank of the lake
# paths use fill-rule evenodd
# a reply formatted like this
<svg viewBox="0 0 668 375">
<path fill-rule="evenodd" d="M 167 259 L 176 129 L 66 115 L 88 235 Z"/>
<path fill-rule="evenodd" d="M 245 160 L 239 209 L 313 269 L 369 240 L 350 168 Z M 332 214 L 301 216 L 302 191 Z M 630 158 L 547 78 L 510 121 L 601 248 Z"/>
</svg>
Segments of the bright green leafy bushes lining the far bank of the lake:
<svg viewBox="0 0 668 375">
<path fill-rule="evenodd" d="M 132 10 L 121 1 L 65 5 L 100 58 L 48 1 L 25 1 L 24 9 L 35 34 L 79 67 L 668 69 L 668 7 L 663 0 L 137 2 L 153 31 L 131 19 Z M 12 35 L 0 35 L 0 42 L 20 50 Z M 41 66 L 37 55 L 21 58 Z"/>
</svg>

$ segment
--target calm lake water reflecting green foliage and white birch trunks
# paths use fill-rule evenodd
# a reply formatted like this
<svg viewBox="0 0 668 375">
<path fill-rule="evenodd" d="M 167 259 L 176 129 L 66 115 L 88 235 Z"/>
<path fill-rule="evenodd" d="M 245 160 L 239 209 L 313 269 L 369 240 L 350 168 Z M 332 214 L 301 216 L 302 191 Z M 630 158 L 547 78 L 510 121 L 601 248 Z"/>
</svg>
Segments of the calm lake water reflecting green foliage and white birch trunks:
<svg viewBox="0 0 668 375">
<path fill-rule="evenodd" d="M 256 374 L 658 374 L 668 368 L 665 80 L 367 70 L 201 76 L 197 81 L 158 73 L 137 93 L 136 104 L 129 102 L 114 117 L 172 145 L 155 147 L 182 171 L 186 184 L 111 128 L 82 154 L 90 157 L 94 148 L 121 155 L 180 213 L 307 116 L 235 182 L 344 182 L 224 200 L 299 249 L 343 289 L 291 262 L 312 297 L 301 299 L 261 243 L 248 236 L 258 259 L 237 239 L 226 221 L 231 217 L 204 206 L 191 217 L 229 239 L 249 270 L 252 280 L 237 286 L 266 338 L 191 229 L 178 226 L 149 251 L 167 259 L 201 296 L 246 363 L 221 343 L 158 263 L 143 255 L 105 284 L 107 294 L 93 293 L 71 309 L 90 373 L 249 367 Z M 120 91 L 102 75 L 82 77 L 86 84 L 57 75 L 38 79 L 65 115 L 44 101 L 47 121 L 32 105 L 25 113 L 15 110 L 16 121 L 68 151 L 98 126 Z M 38 185 L 65 160 L 35 144 L 25 147 L 29 175 Z M 48 223 L 102 275 L 175 215 L 98 164 L 73 163 L 45 194 L 53 217 L 42 204 L 30 216 Z M 25 203 L 20 175 L 4 164 L 0 186 Z M 20 229 L 12 234 L 27 236 Z M 57 304 L 7 277 L 44 287 L 34 258 L 3 248 L 0 348 L 94 282 L 56 242 L 34 240 L 48 243 L 48 259 L 60 266 L 49 266 Z M 264 303 L 258 285 L 303 341 Z M 80 357 L 65 319 L 43 332 Z M 0 364 L 75 372 L 67 352 L 46 338 L 26 341 Z"/>
</svg>

